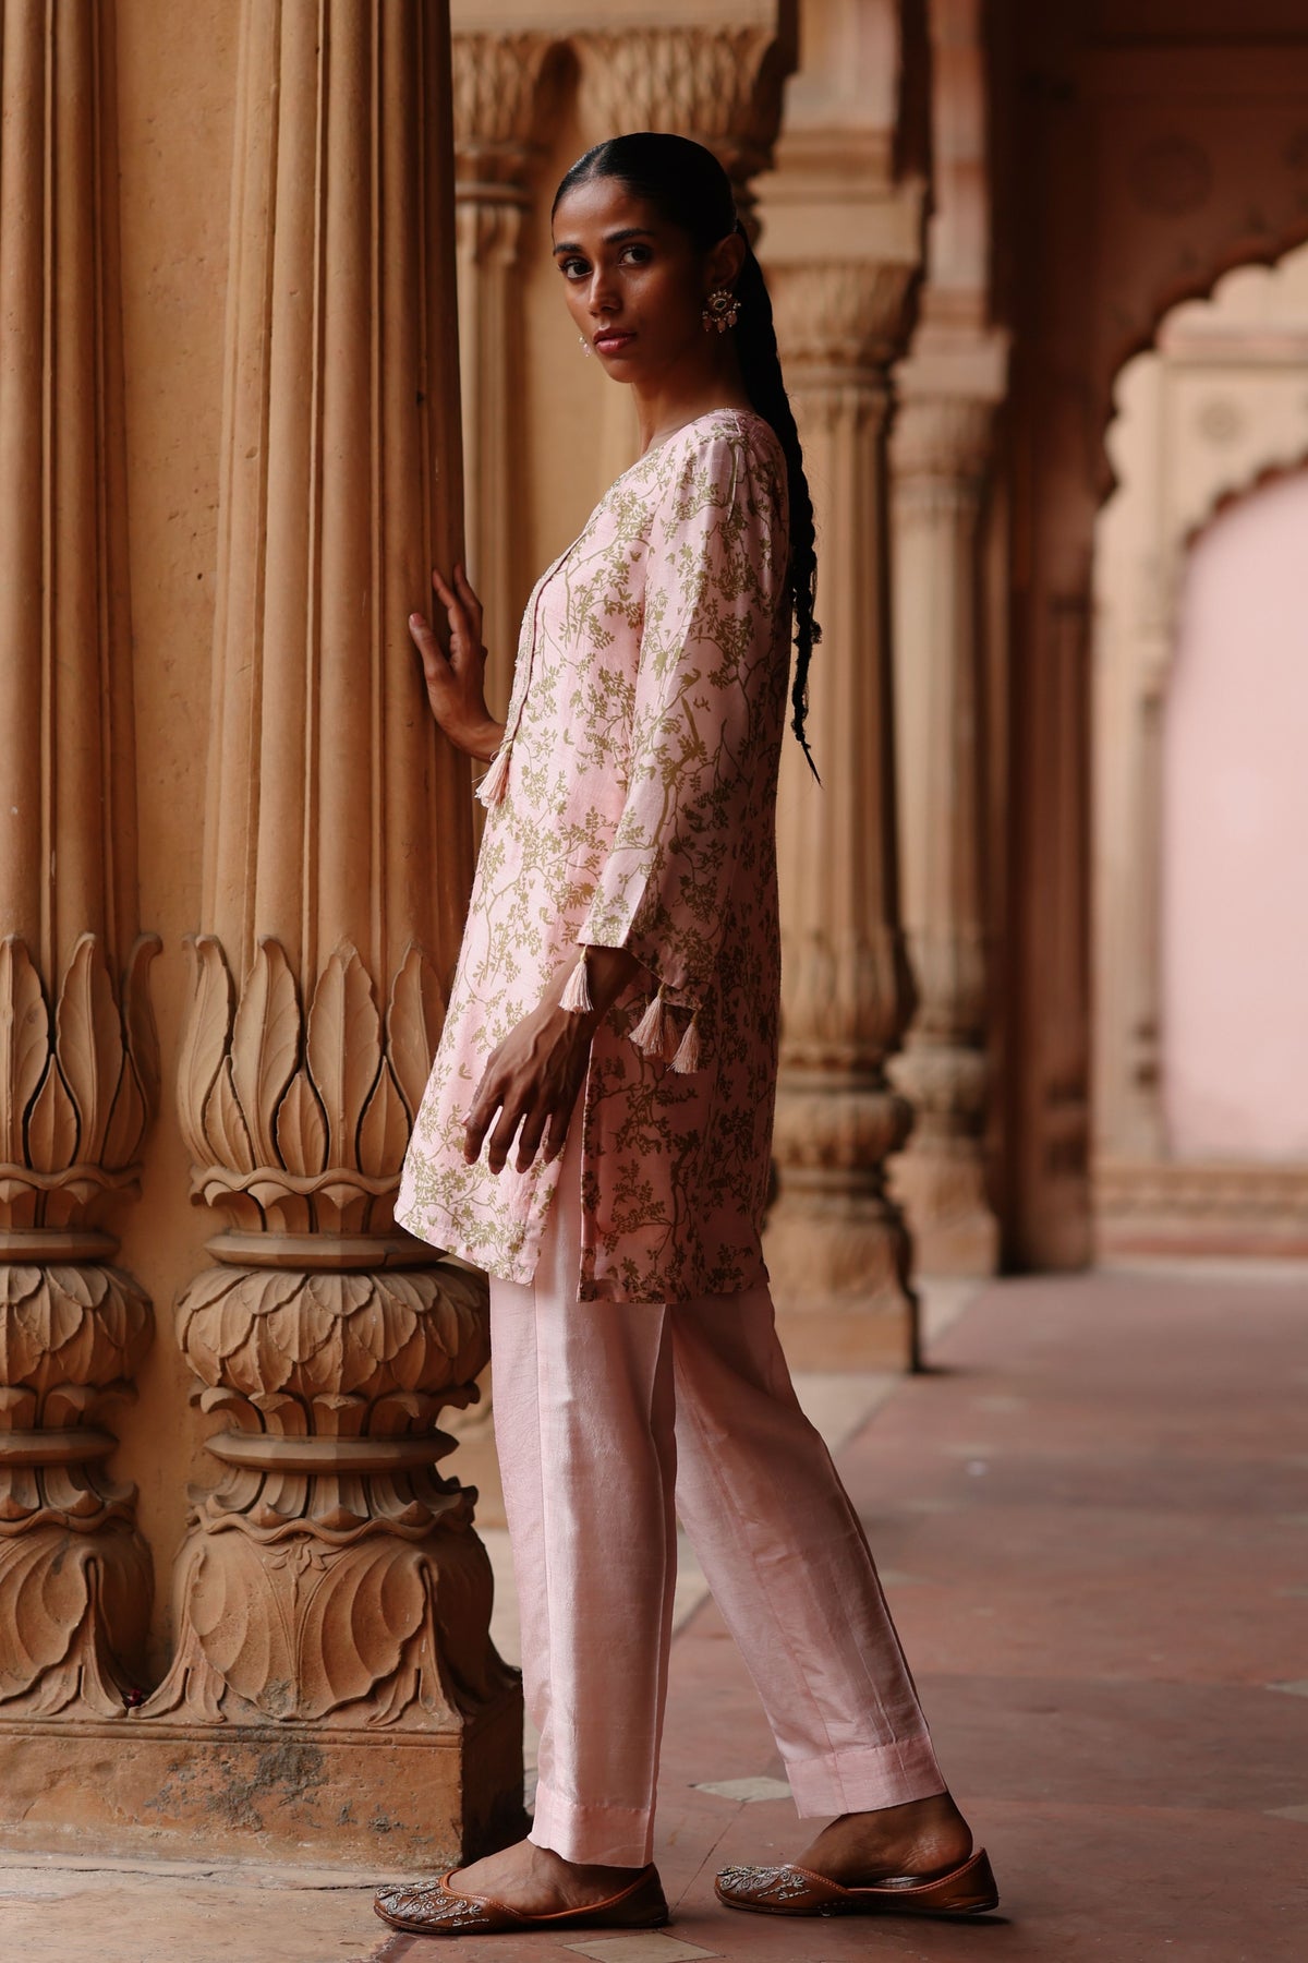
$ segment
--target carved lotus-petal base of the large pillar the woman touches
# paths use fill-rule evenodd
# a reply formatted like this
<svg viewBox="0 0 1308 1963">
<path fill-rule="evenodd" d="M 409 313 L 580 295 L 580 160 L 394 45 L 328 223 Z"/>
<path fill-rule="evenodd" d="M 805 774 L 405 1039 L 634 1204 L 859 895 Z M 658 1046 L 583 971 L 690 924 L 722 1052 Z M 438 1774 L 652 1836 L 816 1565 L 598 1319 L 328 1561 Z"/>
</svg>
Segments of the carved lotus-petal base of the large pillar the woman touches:
<svg viewBox="0 0 1308 1963">
<path fill-rule="evenodd" d="M 512 1672 L 486 1639 L 475 1494 L 437 1474 L 477 1398 L 484 1282 L 390 1205 L 443 1001 L 410 946 L 386 1011 L 343 942 L 308 1011 L 277 940 L 237 995 L 194 942 L 178 1103 L 192 1194 L 231 1221 L 176 1333 L 224 1476 L 192 1492 L 178 1647 L 143 1720 L 449 1729 Z"/>
</svg>

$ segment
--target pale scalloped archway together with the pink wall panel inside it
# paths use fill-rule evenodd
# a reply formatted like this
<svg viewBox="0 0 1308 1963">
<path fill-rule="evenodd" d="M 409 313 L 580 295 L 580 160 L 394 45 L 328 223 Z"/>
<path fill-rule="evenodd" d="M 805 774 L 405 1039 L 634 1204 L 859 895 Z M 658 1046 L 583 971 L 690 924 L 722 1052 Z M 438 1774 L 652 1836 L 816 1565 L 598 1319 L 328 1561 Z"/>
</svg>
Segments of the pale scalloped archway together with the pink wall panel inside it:
<svg viewBox="0 0 1308 1963">
<path fill-rule="evenodd" d="M 1106 1250 L 1298 1250 L 1308 1036 L 1308 249 L 1118 379 L 1094 579 L 1094 1190 Z"/>
</svg>

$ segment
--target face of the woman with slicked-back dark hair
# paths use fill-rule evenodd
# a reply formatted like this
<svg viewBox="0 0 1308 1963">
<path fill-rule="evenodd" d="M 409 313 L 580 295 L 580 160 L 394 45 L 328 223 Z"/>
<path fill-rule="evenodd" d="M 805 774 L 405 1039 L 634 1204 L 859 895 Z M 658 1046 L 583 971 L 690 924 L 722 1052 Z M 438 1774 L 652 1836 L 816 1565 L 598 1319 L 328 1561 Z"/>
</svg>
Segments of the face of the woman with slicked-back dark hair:
<svg viewBox="0 0 1308 1963">
<path fill-rule="evenodd" d="M 704 344 L 712 255 L 612 177 L 559 200 L 555 265 L 569 312 L 618 381 L 655 381 Z"/>
</svg>

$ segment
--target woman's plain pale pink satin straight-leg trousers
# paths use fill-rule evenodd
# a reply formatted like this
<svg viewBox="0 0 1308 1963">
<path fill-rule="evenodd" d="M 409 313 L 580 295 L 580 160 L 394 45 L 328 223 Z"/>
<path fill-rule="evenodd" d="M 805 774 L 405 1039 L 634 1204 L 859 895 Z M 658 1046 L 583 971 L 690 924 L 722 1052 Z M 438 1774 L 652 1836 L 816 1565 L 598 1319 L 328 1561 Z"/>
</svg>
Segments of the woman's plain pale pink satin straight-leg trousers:
<svg viewBox="0 0 1308 1963">
<path fill-rule="evenodd" d="M 796 1402 L 769 1292 L 579 1301 L 579 1135 L 535 1280 L 490 1284 L 494 1431 L 541 1733 L 531 1839 L 569 1861 L 651 1857 L 677 1513 L 800 1814 L 943 1792 L 867 1539 Z"/>
</svg>

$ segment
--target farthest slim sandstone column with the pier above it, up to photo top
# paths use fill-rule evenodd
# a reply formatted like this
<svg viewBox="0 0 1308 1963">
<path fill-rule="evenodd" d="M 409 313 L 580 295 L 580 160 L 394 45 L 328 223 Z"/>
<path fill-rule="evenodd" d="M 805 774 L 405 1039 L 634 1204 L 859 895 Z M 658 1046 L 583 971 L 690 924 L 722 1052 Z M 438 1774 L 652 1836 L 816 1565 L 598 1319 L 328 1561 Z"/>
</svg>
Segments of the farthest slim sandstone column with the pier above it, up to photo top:
<svg viewBox="0 0 1308 1963">
<path fill-rule="evenodd" d="M 894 1166 L 916 1262 L 990 1274 L 984 1180 L 994 978 L 986 919 L 988 789 L 1004 783 L 1000 687 L 986 689 L 982 522 L 1008 342 L 990 324 L 984 22 L 930 0 L 931 222 L 912 353 L 900 363 L 894 465 L 894 699 L 904 925 L 918 980 L 896 1082 L 918 1119 Z"/>
</svg>

